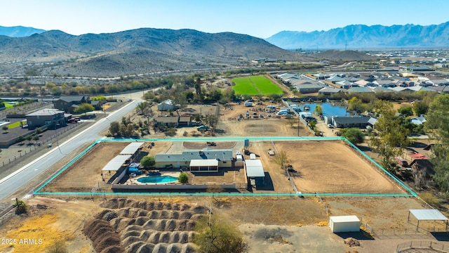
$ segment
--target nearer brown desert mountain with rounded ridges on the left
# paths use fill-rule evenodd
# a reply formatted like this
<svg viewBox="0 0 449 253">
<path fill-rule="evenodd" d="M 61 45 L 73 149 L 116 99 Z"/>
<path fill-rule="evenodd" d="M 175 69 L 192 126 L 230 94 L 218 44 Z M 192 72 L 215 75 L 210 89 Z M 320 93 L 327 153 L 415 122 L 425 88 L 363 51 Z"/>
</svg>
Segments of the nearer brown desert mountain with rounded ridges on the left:
<svg viewBox="0 0 449 253">
<path fill-rule="evenodd" d="M 0 75 L 118 77 L 127 74 L 248 66 L 249 60 L 302 60 L 300 54 L 246 34 L 141 28 L 116 33 L 67 34 L 51 30 L 29 37 L 0 35 Z"/>
</svg>

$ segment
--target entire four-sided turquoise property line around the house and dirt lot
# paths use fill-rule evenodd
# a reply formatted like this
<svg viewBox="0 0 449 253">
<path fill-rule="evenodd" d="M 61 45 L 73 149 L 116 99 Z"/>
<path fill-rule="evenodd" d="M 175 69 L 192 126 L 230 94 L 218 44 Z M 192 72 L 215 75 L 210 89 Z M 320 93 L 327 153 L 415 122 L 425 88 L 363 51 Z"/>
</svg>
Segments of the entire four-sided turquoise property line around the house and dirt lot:
<svg viewBox="0 0 449 253">
<path fill-rule="evenodd" d="M 211 138 L 170 138 L 170 139 L 161 139 L 161 138 L 152 138 L 152 139 L 113 139 L 113 138 L 107 138 L 107 139 L 98 139 L 97 141 L 95 141 L 95 143 L 93 143 L 92 145 L 90 145 L 88 148 L 86 148 L 86 150 L 83 150 L 83 152 L 81 152 L 79 155 L 77 155 L 74 160 L 72 160 L 71 162 L 69 162 L 65 167 L 63 167 L 57 174 L 55 174 L 54 176 L 51 177 L 51 179 L 48 179 L 48 181 L 46 181 L 46 183 L 44 183 L 41 187 L 37 188 L 37 190 L 34 191 L 34 194 L 42 194 L 42 195 L 57 195 L 57 194 L 81 194 L 81 195 L 95 195 L 95 194 L 119 194 L 121 195 L 121 193 L 39 193 L 39 190 L 41 190 L 43 187 L 45 187 L 48 183 L 50 183 L 51 181 L 53 181 L 53 179 L 55 179 L 56 176 L 59 176 L 62 171 L 65 171 L 65 169 L 67 169 L 68 167 L 70 167 L 70 165 L 72 165 L 74 162 L 76 162 L 76 160 L 78 160 L 81 156 L 83 156 L 84 154 L 86 154 L 88 152 L 88 150 L 90 150 L 91 148 L 93 148 L 93 146 L 95 146 L 97 143 L 100 143 L 101 141 L 217 141 L 217 140 L 221 140 L 221 141 L 241 141 L 241 140 L 257 140 L 257 141 L 271 141 L 271 140 L 288 140 L 288 141 L 346 141 L 347 143 L 349 143 L 353 148 L 355 148 L 356 150 L 358 150 L 358 152 L 360 152 L 363 156 L 367 157 L 371 162 L 373 162 L 377 167 L 380 167 L 380 169 L 382 169 L 382 171 L 386 172 L 392 179 L 394 179 L 396 182 L 398 182 L 399 184 L 401 184 L 401 186 L 403 186 L 404 188 L 406 188 L 406 190 L 408 190 L 408 192 L 410 192 L 410 194 L 376 194 L 376 193 L 317 193 L 319 195 L 323 195 L 323 196 L 380 196 L 380 197 L 385 197 L 385 196 L 393 196 L 393 197 L 416 197 L 417 194 L 415 192 L 413 192 L 413 190 L 410 190 L 410 188 L 408 188 L 407 186 L 405 186 L 401 181 L 398 181 L 398 179 L 396 179 L 393 175 L 391 175 L 388 171 L 386 171 L 384 168 L 382 168 L 382 166 L 380 166 L 380 164 L 377 164 L 377 162 L 375 162 L 373 159 L 371 159 L 371 157 L 369 157 L 368 155 L 366 155 L 365 153 L 363 153 L 362 150 L 360 150 L 359 148 L 357 148 L 354 144 L 352 144 L 350 141 L 347 140 L 347 138 L 343 138 L 343 137 L 250 137 L 250 138 L 245 138 L 245 137 L 236 137 L 236 138 L 225 138 L 225 137 L 211 137 Z M 126 193 L 127 195 L 135 195 L 135 194 L 150 194 L 150 195 L 154 195 L 156 193 Z M 166 194 L 166 193 L 160 193 L 161 195 Z M 180 195 L 203 195 L 203 196 L 209 196 L 209 195 L 217 195 L 215 194 L 211 194 L 211 193 L 179 193 Z M 233 196 L 233 195 L 242 195 L 243 193 L 229 193 L 230 195 L 227 196 Z M 279 195 L 286 195 L 286 196 L 290 196 L 290 195 L 298 195 L 298 196 L 314 196 L 314 193 L 300 193 L 300 194 L 290 194 L 290 193 L 281 193 L 281 194 L 276 194 L 276 193 L 244 193 L 244 195 L 248 196 L 279 196 Z M 171 195 L 173 195 L 173 193 L 171 193 Z"/>
</svg>

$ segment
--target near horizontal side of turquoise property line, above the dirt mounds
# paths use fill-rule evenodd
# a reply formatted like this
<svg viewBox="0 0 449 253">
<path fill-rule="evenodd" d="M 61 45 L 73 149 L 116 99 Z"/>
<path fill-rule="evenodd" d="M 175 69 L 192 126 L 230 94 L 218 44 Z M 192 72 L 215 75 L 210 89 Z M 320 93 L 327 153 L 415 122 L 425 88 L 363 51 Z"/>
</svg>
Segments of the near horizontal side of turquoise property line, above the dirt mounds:
<svg viewBox="0 0 449 253">
<path fill-rule="evenodd" d="M 263 196 L 263 197 L 285 197 L 285 196 L 329 196 L 329 197 L 415 197 L 411 194 L 377 194 L 377 193 L 36 193 L 36 195 L 156 195 L 156 196 Z"/>
</svg>

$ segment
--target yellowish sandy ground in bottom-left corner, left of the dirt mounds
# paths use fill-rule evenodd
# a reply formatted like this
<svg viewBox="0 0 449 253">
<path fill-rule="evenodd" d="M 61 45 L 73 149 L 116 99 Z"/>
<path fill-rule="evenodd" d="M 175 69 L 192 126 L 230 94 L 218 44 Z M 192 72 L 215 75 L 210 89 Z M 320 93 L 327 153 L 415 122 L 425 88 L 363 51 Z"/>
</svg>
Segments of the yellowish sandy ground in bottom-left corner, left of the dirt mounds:
<svg viewBox="0 0 449 253">
<path fill-rule="evenodd" d="M 92 200 L 65 201 L 33 197 L 27 201 L 29 214 L 15 216 L 0 228 L 0 238 L 41 239 L 41 244 L 0 245 L 0 252 L 45 252 L 55 242 L 65 242 L 67 252 L 93 252 L 90 240 L 81 229 L 91 219 L 99 202 Z"/>
</svg>

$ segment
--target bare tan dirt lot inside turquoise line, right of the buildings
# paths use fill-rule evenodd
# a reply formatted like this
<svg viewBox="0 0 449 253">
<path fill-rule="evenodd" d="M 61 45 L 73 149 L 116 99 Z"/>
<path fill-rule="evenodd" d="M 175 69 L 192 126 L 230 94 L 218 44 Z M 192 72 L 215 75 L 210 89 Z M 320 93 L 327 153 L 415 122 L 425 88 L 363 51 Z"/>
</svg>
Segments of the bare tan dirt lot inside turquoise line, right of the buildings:
<svg viewBox="0 0 449 253">
<path fill-rule="evenodd" d="M 288 154 L 302 193 L 406 193 L 342 141 L 275 144 Z"/>
</svg>

